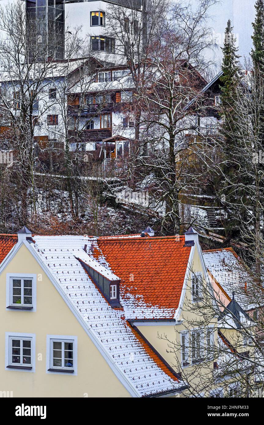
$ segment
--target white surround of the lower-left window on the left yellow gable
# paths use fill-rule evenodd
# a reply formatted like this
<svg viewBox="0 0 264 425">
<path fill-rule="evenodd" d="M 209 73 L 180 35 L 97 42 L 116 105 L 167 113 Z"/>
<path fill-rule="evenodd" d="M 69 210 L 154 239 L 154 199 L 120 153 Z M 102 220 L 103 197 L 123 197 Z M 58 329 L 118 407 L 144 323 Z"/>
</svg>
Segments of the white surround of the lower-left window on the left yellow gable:
<svg viewBox="0 0 264 425">
<path fill-rule="evenodd" d="M 31 340 L 31 364 L 12 364 L 12 353 L 11 353 L 11 340 L 12 339 L 24 339 Z M 36 371 L 36 334 L 25 334 L 20 332 L 6 332 L 6 356 L 5 356 L 5 369 L 7 371 L 22 371 L 22 372 L 35 372 Z M 31 367 L 31 369 L 28 369 Z"/>
</svg>

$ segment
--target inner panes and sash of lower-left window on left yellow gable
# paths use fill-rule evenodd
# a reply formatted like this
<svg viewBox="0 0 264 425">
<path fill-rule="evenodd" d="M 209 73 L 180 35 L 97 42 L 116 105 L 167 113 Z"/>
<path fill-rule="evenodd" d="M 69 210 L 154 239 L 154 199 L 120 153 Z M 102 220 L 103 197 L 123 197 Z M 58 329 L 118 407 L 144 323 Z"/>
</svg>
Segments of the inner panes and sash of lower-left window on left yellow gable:
<svg viewBox="0 0 264 425">
<path fill-rule="evenodd" d="M 31 338 L 9 337 L 9 366 L 32 366 Z"/>
</svg>

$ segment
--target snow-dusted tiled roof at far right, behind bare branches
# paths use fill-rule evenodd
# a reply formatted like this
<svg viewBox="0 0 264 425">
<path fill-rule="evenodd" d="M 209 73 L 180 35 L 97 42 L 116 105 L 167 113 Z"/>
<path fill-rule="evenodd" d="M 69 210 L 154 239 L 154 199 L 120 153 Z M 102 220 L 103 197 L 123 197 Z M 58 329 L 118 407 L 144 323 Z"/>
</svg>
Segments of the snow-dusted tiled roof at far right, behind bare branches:
<svg viewBox="0 0 264 425">
<path fill-rule="evenodd" d="M 205 264 L 213 278 L 228 297 L 235 292 L 236 300 L 244 310 L 254 308 L 256 285 L 253 275 L 232 248 L 211 249 L 203 252 Z"/>
</svg>

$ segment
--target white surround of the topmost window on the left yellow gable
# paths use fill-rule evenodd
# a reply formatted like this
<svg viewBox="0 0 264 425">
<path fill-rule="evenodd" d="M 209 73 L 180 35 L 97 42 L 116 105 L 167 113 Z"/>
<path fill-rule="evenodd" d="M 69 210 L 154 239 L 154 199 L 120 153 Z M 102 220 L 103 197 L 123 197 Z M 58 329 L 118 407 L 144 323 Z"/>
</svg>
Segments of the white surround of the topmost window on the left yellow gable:
<svg viewBox="0 0 264 425">
<path fill-rule="evenodd" d="M 30 304 L 13 304 L 13 298 L 12 298 L 13 279 L 32 279 L 32 304 L 31 305 Z M 30 309 L 27 308 L 31 306 L 32 308 Z M 16 307 L 19 307 L 19 308 L 16 308 Z M 6 311 L 26 311 L 26 312 L 37 311 L 37 275 L 32 273 L 6 273 Z"/>
</svg>

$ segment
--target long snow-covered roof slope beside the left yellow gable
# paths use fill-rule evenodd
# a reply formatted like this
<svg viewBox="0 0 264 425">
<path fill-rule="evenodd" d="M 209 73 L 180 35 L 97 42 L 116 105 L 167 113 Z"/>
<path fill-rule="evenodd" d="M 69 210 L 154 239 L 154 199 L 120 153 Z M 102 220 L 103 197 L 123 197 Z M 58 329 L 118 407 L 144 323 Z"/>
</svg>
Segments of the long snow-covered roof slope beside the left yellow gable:
<svg viewBox="0 0 264 425">
<path fill-rule="evenodd" d="M 37 256 L 138 397 L 179 390 L 183 382 L 179 382 L 157 353 L 130 326 L 124 310 L 110 306 L 77 259 L 93 264 L 93 267 L 97 263 L 98 271 L 106 275 L 109 271 L 109 276 L 115 276 L 98 247 L 97 239 L 87 236 L 34 236 L 34 241 L 31 246 Z M 84 245 L 87 245 L 87 254 Z M 100 254 L 97 260 L 95 252 Z"/>
</svg>

